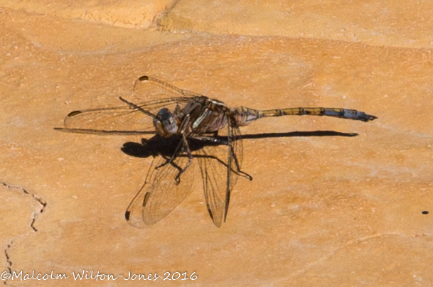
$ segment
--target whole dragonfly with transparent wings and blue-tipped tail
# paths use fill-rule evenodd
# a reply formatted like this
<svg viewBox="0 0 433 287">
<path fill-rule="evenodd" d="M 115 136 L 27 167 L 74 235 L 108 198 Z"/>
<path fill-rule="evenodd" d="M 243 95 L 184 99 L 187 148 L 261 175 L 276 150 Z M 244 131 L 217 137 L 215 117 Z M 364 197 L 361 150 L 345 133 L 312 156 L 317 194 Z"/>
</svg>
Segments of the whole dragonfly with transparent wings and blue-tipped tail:
<svg viewBox="0 0 433 287">
<path fill-rule="evenodd" d="M 139 77 L 131 98 L 119 97 L 123 102 L 119 107 L 70 112 L 64 128 L 55 129 L 78 134 L 154 134 L 166 146 L 163 152 L 153 155 L 144 184 L 125 213 L 129 224 L 139 228 L 149 227 L 169 215 L 191 193 L 197 175 L 201 177 L 210 218 L 217 227 L 225 222 L 237 179 L 252 180 L 242 171 L 240 126 L 264 117 L 287 115 L 377 119 L 365 112 L 342 108 L 230 108 L 217 99 L 181 90 L 149 76 Z"/>
</svg>

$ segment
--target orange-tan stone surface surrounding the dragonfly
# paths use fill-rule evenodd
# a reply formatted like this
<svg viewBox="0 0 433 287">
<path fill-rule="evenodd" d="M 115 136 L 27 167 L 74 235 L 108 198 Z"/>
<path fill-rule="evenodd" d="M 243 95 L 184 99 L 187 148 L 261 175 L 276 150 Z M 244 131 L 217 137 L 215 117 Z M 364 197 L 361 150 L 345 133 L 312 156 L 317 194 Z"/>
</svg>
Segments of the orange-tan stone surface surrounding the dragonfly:
<svg viewBox="0 0 433 287">
<path fill-rule="evenodd" d="M 287 8 L 272 5 L 178 1 L 166 10 L 155 2 L 149 5 L 160 10 L 148 13 L 162 18 L 151 23 L 134 22 L 139 2 L 86 3 L 53 4 L 75 7 L 68 12 L 48 1 L 0 2 L 2 270 L 70 277 L 9 279 L 6 286 L 144 283 L 74 281 L 73 271 L 83 270 L 157 273 L 155 285 L 432 286 L 429 2 L 342 9 L 310 1 L 290 6 L 298 15 L 291 20 L 277 18 Z M 90 4 L 116 10 L 114 18 L 75 16 Z M 113 8 L 119 5 L 124 10 Z M 237 13 L 249 15 L 242 25 Z M 289 22 L 299 29 L 283 33 L 292 30 L 282 31 Z M 337 23 L 347 24 L 341 36 Z M 355 39 L 360 23 L 370 32 Z M 242 169 L 254 179 L 238 180 L 222 227 L 210 220 L 196 178 L 169 216 L 136 229 L 124 212 L 151 158 L 120 148 L 141 136 L 53 128 L 73 110 L 121 104 L 141 75 L 232 107 L 346 107 L 378 119 L 280 117 L 245 126 L 242 134 L 282 134 L 245 139 Z M 198 278 L 163 281 L 166 271 Z"/>
</svg>

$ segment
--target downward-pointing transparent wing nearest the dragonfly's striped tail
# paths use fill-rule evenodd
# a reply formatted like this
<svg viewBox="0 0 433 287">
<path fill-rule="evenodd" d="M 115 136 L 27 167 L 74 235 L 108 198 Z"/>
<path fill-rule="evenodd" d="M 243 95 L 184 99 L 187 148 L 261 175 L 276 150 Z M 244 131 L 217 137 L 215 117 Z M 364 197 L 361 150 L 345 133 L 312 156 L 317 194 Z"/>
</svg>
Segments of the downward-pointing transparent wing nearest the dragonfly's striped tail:
<svg viewBox="0 0 433 287">
<path fill-rule="evenodd" d="M 233 133 L 235 131 L 235 134 Z M 208 145 L 196 152 L 200 163 L 206 206 L 213 223 L 220 227 L 227 216 L 230 193 L 242 165 L 242 141 L 233 140 L 239 129 L 232 126 L 218 131 L 218 145 Z M 224 142 L 225 141 L 225 142 Z"/>
</svg>

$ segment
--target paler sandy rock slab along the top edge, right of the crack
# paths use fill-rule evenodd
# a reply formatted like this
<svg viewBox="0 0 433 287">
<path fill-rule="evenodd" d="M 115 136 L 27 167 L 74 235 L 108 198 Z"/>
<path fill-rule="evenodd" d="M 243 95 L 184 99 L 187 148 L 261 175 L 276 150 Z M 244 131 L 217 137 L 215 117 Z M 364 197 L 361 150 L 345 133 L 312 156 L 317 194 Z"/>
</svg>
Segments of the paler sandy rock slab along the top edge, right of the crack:
<svg viewBox="0 0 433 287">
<path fill-rule="evenodd" d="M 192 9 L 193 8 L 193 9 Z M 177 1 L 159 25 L 173 32 L 286 36 L 432 48 L 431 1 Z"/>
</svg>

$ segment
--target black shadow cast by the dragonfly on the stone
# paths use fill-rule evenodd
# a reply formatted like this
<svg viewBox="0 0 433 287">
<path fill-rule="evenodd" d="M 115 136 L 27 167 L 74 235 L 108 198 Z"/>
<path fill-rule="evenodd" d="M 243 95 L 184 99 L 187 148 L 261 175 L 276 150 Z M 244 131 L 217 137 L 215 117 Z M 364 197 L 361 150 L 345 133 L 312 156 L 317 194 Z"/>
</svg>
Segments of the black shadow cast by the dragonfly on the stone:
<svg viewBox="0 0 433 287">
<path fill-rule="evenodd" d="M 243 134 L 240 139 L 267 139 L 267 138 L 284 138 L 294 136 L 358 136 L 355 133 L 341 133 L 338 131 L 292 131 L 287 133 L 265 133 L 265 134 Z M 181 136 L 173 135 L 168 138 L 156 134 L 151 139 L 141 139 L 141 144 L 129 141 L 125 143 L 121 150 L 128 156 L 137 158 L 148 158 L 149 156 L 166 156 L 171 157 L 175 152 L 178 144 L 181 142 Z M 213 146 L 209 141 L 203 142 L 188 139 L 188 146 L 191 151 L 198 151 L 205 146 Z"/>
</svg>

